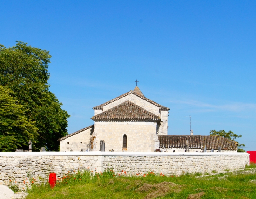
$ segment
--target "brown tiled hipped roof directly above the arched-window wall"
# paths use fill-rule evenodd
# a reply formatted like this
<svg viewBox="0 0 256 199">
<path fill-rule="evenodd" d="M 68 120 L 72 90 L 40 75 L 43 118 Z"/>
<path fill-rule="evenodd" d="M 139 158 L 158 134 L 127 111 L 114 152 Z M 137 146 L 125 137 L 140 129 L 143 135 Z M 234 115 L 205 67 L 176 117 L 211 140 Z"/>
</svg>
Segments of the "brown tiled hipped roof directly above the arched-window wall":
<svg viewBox="0 0 256 199">
<path fill-rule="evenodd" d="M 142 121 L 160 121 L 160 117 L 150 113 L 149 111 L 141 108 L 140 106 L 125 101 L 107 111 L 97 114 L 91 118 L 94 121 L 102 120 L 142 120 Z"/>
</svg>

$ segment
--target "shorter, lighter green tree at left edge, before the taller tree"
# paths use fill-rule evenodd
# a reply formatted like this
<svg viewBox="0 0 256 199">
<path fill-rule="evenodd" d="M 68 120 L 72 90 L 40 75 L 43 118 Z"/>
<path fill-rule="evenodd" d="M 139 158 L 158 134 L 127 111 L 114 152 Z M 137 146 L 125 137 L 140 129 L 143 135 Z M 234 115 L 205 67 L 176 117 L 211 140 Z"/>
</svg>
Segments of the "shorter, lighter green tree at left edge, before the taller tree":
<svg viewBox="0 0 256 199">
<path fill-rule="evenodd" d="M 13 91 L 0 85 L 0 151 L 28 150 L 28 141 L 36 142 L 38 128 L 11 94 Z"/>
</svg>

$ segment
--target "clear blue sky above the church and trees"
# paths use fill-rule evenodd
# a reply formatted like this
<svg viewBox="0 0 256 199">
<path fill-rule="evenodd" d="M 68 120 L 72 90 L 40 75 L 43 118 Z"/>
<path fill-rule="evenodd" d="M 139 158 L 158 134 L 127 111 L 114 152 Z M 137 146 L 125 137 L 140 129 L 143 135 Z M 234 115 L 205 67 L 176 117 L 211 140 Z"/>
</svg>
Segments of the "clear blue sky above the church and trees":
<svg viewBox="0 0 256 199">
<path fill-rule="evenodd" d="M 232 130 L 256 150 L 256 1 L 0 1 L 0 43 L 52 55 L 50 90 L 71 117 L 135 87 L 170 108 L 168 134 Z"/>
</svg>

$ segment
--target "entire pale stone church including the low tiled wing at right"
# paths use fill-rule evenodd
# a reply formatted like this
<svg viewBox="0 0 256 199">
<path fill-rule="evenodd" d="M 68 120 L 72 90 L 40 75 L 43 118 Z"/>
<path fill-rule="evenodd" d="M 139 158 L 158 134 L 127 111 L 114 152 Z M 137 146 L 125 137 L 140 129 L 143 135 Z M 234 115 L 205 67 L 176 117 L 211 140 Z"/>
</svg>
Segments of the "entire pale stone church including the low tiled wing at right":
<svg viewBox="0 0 256 199">
<path fill-rule="evenodd" d="M 59 139 L 60 151 L 236 152 L 237 143 L 220 136 L 167 135 L 169 108 L 135 87 L 93 107 L 94 124 Z"/>
</svg>

